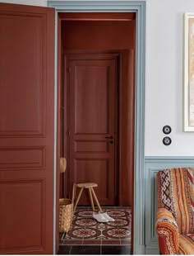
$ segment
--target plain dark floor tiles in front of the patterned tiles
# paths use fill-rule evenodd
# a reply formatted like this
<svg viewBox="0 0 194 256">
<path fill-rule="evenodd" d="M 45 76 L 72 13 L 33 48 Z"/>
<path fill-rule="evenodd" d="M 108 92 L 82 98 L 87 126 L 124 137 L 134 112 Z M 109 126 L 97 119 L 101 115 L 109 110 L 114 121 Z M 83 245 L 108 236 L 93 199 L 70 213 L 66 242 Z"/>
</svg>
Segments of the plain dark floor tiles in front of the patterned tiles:
<svg viewBox="0 0 194 256">
<path fill-rule="evenodd" d="M 129 255 L 131 254 L 131 248 L 127 245 L 61 245 L 59 247 L 58 254 L 88 254 L 88 255 Z"/>
</svg>

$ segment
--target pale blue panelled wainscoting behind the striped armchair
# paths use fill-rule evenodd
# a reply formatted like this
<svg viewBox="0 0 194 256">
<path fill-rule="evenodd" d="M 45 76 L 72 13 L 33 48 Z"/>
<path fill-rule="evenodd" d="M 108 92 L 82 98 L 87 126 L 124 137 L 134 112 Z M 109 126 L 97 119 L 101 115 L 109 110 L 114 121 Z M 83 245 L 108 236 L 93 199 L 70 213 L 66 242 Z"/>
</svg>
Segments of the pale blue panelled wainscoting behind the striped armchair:
<svg viewBox="0 0 194 256">
<path fill-rule="evenodd" d="M 194 167 L 194 156 L 145 157 L 145 244 L 146 254 L 159 254 L 158 236 L 155 232 L 157 211 L 156 173 L 165 168 Z"/>
</svg>

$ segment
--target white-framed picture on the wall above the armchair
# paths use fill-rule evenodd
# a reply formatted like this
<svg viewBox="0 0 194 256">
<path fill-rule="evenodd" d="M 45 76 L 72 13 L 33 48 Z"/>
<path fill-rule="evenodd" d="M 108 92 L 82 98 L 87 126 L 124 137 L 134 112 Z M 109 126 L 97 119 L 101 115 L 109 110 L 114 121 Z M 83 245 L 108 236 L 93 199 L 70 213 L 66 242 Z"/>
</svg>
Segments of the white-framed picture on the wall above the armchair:
<svg viewBox="0 0 194 256">
<path fill-rule="evenodd" d="M 194 13 L 184 20 L 184 131 L 194 131 Z"/>
</svg>

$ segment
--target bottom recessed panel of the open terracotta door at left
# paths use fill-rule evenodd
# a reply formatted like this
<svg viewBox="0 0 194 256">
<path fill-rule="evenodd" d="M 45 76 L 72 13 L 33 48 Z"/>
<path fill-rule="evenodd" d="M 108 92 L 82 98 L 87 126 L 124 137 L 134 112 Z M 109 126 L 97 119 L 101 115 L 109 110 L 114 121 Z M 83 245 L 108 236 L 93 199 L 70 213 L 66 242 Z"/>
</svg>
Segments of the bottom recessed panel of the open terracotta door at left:
<svg viewBox="0 0 194 256">
<path fill-rule="evenodd" d="M 2 221 L 1 229 L 3 236 L 9 237 L 2 239 L 4 242 L 2 249 L 12 247 L 21 252 L 24 249 L 33 251 L 40 249 L 45 228 L 42 220 L 46 213 L 44 190 L 44 179 L 10 180 L 1 183 L 0 193 L 3 197 L 1 216 L 3 220 L 8 220 Z"/>
</svg>

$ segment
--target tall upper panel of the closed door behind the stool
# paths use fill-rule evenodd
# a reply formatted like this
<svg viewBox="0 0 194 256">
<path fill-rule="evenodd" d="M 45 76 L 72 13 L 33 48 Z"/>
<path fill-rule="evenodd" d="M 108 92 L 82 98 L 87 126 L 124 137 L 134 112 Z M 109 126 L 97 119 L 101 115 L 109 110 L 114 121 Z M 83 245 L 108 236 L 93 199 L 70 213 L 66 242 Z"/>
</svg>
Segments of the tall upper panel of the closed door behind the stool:
<svg viewBox="0 0 194 256">
<path fill-rule="evenodd" d="M 86 62 L 75 68 L 75 133 L 106 134 L 109 133 L 109 66 L 98 66 L 100 61 Z"/>
</svg>

